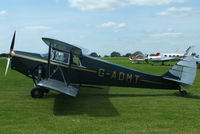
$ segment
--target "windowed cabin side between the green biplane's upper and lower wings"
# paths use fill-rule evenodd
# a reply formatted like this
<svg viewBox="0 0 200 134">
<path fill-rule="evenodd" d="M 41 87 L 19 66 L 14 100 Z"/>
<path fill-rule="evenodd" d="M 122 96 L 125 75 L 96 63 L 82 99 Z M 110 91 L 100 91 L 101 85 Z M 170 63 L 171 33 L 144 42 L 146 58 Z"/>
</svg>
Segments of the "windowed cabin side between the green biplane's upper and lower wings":
<svg viewBox="0 0 200 134">
<path fill-rule="evenodd" d="M 71 52 L 67 53 L 52 49 L 48 78 L 63 81 L 67 85 L 71 82 L 77 83 L 80 81 L 80 68 L 84 67 L 79 56 Z"/>
</svg>

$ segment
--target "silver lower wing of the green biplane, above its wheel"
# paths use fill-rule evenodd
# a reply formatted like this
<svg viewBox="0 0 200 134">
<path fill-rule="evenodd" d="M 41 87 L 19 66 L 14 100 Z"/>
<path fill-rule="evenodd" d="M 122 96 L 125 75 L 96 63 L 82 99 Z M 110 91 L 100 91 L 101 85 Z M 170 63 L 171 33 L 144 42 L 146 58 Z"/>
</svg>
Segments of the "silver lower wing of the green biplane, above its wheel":
<svg viewBox="0 0 200 134">
<path fill-rule="evenodd" d="M 64 82 L 54 80 L 54 79 L 45 79 L 40 81 L 38 86 L 55 90 L 70 96 L 76 96 L 78 93 L 78 88 L 75 86 L 67 85 Z"/>
</svg>

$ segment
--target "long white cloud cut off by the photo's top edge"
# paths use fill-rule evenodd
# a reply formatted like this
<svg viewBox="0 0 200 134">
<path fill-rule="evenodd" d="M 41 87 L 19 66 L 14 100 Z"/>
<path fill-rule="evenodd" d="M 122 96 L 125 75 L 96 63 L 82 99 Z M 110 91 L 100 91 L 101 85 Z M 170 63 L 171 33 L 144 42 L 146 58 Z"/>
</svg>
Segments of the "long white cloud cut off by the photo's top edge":
<svg viewBox="0 0 200 134">
<path fill-rule="evenodd" d="M 185 0 L 68 0 L 68 3 L 71 7 L 81 10 L 114 10 L 131 5 L 154 6 L 184 1 Z"/>
</svg>

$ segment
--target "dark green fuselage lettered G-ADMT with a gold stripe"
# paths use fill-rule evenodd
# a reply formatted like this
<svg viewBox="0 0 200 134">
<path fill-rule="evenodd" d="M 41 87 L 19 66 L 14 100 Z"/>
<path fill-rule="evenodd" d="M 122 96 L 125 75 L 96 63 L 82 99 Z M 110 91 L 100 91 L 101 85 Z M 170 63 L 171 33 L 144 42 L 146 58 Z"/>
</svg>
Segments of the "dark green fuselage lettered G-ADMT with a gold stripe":
<svg viewBox="0 0 200 134">
<path fill-rule="evenodd" d="M 179 83 L 163 79 L 162 76 L 136 71 L 114 63 L 83 55 L 81 66 L 50 62 L 51 78 L 72 84 L 106 85 L 121 87 L 179 89 Z M 29 76 L 38 76 L 38 67 L 42 67 L 42 79 L 48 76 L 48 58 L 40 54 L 14 51 L 11 68 Z"/>
</svg>

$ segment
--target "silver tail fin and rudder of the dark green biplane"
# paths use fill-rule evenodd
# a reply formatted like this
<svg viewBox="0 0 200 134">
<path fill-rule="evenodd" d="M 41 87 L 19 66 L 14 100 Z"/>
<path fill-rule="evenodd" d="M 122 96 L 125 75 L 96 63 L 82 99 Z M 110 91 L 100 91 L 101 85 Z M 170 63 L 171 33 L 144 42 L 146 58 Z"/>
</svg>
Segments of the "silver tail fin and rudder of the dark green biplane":
<svg viewBox="0 0 200 134">
<path fill-rule="evenodd" d="M 180 85 L 189 88 L 194 82 L 196 71 L 196 60 L 188 56 L 176 63 L 176 65 L 163 75 L 163 78 L 179 82 Z"/>
</svg>

